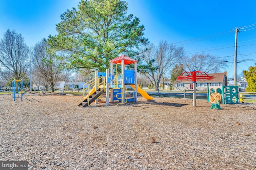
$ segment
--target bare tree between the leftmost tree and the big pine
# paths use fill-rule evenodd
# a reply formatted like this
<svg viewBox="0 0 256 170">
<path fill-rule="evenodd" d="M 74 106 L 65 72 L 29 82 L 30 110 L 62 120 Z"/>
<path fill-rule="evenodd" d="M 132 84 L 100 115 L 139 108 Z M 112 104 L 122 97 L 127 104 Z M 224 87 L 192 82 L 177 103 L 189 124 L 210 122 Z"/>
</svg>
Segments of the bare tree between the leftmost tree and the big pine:
<svg viewBox="0 0 256 170">
<path fill-rule="evenodd" d="M 46 45 L 43 40 L 37 43 L 33 50 L 33 64 L 38 74 L 49 83 L 52 92 L 54 92 L 54 85 L 58 81 L 62 70 L 61 60 L 56 60 L 54 51 Z"/>
</svg>

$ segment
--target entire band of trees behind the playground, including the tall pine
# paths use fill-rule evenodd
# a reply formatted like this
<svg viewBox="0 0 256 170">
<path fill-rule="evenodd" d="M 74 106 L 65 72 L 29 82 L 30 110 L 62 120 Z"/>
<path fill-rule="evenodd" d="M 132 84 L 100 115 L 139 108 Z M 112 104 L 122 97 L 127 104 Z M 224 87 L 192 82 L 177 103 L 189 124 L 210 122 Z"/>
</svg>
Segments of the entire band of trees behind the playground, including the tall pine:
<svg viewBox="0 0 256 170">
<path fill-rule="evenodd" d="M 105 72 L 108 61 L 121 54 L 138 61 L 138 82 L 158 90 L 164 81 L 172 87 L 176 77 L 184 71 L 200 70 L 216 73 L 225 68 L 224 62 L 209 54 L 186 55 L 185 49 L 167 41 L 158 45 L 144 37 L 144 25 L 127 14 L 127 2 L 121 0 L 82 0 L 75 8 L 61 15 L 56 25 L 58 34 L 49 35 L 29 48 L 21 33 L 7 29 L 0 41 L 0 86 L 15 79 L 51 88 L 56 82 L 78 80 L 87 82 L 93 72 Z M 133 65 L 127 66 L 129 69 Z M 254 68 L 244 71 L 246 80 Z M 251 79 L 250 79 L 251 78 Z M 252 91 L 255 87 L 248 82 Z"/>
</svg>

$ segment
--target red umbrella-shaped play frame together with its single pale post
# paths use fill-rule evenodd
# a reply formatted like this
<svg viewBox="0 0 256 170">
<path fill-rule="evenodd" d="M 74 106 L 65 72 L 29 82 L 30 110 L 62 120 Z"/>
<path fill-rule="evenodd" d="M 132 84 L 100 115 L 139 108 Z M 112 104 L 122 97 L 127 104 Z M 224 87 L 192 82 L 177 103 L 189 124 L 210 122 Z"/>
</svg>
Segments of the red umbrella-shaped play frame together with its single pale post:
<svg viewBox="0 0 256 170">
<path fill-rule="evenodd" d="M 193 70 L 192 72 L 183 72 L 177 77 L 177 80 L 192 80 L 193 82 L 193 106 L 196 106 L 196 80 L 211 80 L 213 76 L 208 76 L 205 72 Z M 209 102 L 209 100 L 208 100 Z"/>
</svg>

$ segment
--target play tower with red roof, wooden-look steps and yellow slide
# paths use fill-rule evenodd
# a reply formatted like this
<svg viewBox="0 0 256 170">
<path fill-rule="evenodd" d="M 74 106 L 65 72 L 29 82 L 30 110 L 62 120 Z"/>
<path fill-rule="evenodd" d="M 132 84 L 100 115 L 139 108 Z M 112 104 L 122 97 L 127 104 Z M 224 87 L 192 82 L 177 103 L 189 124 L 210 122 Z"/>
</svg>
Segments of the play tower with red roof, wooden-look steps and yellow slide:
<svg viewBox="0 0 256 170">
<path fill-rule="evenodd" d="M 138 61 L 131 59 L 125 55 L 109 61 L 110 73 L 106 69 L 106 72 L 95 72 L 95 78 L 84 84 L 83 86 L 83 102 L 78 106 L 86 107 L 95 101 L 98 104 L 98 98 L 106 92 L 106 106 L 110 102 L 118 101 L 125 104 L 127 102 L 137 102 L 137 95 L 140 93 L 146 100 L 152 100 L 153 97 L 149 96 L 144 90 L 140 89 L 137 85 L 137 63 Z M 115 75 L 113 66 L 115 66 Z M 125 65 L 134 64 L 134 70 L 126 70 Z M 118 74 L 118 65 L 121 66 L 121 72 Z M 126 86 L 130 85 L 133 89 L 132 97 L 128 97 Z M 109 94 L 110 92 L 110 94 Z M 85 95 L 87 94 L 87 95 Z"/>
</svg>

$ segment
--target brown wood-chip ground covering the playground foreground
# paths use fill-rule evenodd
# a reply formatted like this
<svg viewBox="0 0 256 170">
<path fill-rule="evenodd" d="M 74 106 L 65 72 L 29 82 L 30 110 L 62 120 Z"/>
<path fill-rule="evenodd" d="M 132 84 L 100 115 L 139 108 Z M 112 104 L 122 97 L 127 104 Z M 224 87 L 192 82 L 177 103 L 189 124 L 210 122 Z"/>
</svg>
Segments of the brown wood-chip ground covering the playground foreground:
<svg viewBox="0 0 256 170">
<path fill-rule="evenodd" d="M 78 107 L 81 96 L 0 98 L 0 160 L 35 169 L 255 169 L 256 105 L 154 98 Z"/>
</svg>

